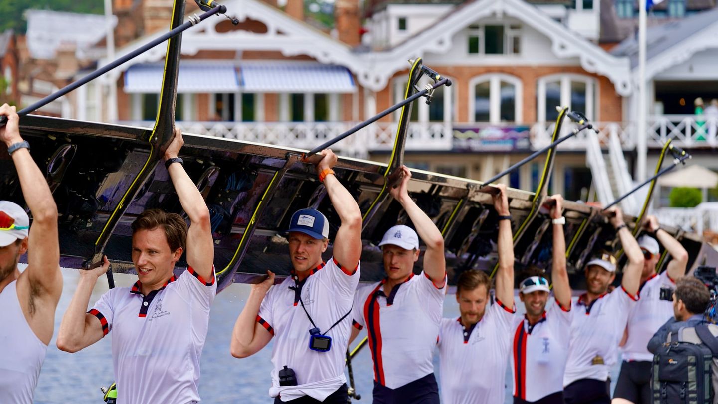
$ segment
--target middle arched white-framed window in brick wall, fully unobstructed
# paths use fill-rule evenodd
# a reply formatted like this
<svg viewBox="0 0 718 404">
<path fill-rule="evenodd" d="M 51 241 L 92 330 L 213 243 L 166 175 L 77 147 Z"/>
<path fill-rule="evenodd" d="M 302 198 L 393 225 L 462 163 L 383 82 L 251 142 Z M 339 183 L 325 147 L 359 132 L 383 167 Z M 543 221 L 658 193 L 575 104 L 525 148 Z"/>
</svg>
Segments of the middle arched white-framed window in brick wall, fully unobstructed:
<svg viewBox="0 0 718 404">
<path fill-rule="evenodd" d="M 521 122 L 521 80 L 486 74 L 469 83 L 469 119 L 474 122 Z"/>
</svg>

